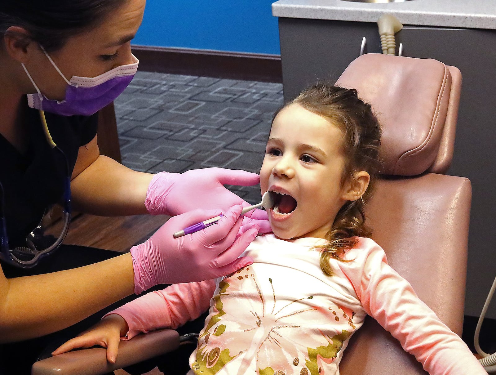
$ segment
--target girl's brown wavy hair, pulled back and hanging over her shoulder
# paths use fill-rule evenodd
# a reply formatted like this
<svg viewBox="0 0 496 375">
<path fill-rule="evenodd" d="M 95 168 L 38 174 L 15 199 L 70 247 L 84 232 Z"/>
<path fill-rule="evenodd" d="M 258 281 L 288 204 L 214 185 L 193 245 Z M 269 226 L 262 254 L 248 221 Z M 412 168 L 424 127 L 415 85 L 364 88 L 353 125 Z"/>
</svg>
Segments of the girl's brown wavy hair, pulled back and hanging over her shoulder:
<svg viewBox="0 0 496 375">
<path fill-rule="evenodd" d="M 379 171 L 381 128 L 371 105 L 359 99 L 355 89 L 319 82 L 303 90 L 282 108 L 291 104 L 298 104 L 322 116 L 342 131 L 343 151 L 346 156 L 342 183 L 347 178 L 354 178 L 353 173 L 356 171 L 366 171 L 371 177 L 369 187 L 362 198 L 346 202 L 338 211 L 331 230 L 326 234 L 328 245 L 322 250 L 320 267 L 324 273 L 332 275 L 329 258 L 342 260 L 340 255 L 344 254 L 344 250 L 351 249 L 357 243 L 357 239 L 353 237 L 372 235 L 370 228 L 365 225 L 365 204 L 372 195 Z"/>
</svg>

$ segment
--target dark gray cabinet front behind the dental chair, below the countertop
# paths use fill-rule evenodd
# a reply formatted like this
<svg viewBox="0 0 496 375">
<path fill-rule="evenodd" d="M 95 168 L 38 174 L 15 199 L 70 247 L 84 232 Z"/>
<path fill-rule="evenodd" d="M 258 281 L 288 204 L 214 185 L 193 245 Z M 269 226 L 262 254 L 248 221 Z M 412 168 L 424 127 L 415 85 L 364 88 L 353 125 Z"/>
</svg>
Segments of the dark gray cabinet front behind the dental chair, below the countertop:
<svg viewBox="0 0 496 375">
<path fill-rule="evenodd" d="M 360 55 L 380 53 L 377 25 L 279 18 L 284 97 L 316 79 L 334 82 Z M 496 30 L 405 26 L 403 56 L 432 58 L 463 76 L 454 158 L 449 175 L 467 177 L 473 198 L 465 313 L 478 316 L 496 273 Z M 492 304 L 488 317 L 496 318 Z"/>
</svg>

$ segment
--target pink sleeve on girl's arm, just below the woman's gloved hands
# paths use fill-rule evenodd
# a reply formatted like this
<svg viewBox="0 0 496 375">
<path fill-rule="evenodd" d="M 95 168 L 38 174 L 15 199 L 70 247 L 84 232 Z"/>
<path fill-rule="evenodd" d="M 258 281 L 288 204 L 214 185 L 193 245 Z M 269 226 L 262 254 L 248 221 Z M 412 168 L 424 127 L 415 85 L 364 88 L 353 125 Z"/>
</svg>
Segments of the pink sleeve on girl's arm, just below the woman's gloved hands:
<svg viewBox="0 0 496 375">
<path fill-rule="evenodd" d="M 108 313 L 121 315 L 128 325 L 124 339 L 158 328 L 177 328 L 208 310 L 215 279 L 173 284 L 128 302 Z M 105 315 L 105 316 L 107 316 Z"/>
</svg>

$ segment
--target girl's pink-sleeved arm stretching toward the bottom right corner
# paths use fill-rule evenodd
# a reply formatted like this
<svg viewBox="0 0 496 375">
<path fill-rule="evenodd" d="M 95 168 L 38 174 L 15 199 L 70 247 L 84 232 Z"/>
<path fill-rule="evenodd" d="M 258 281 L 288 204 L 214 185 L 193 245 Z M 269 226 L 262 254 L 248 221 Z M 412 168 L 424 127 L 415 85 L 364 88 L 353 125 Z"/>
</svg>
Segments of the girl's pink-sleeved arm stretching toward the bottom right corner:
<svg viewBox="0 0 496 375">
<path fill-rule="evenodd" d="M 363 255 L 358 251 L 350 251 L 350 259 L 358 255 L 348 263 L 356 265 L 346 273 L 365 311 L 398 339 L 405 351 L 413 354 L 431 375 L 487 375 L 462 339 L 387 264 L 379 246 L 374 244 L 372 249 L 360 251 L 366 259 L 360 259 Z"/>
</svg>

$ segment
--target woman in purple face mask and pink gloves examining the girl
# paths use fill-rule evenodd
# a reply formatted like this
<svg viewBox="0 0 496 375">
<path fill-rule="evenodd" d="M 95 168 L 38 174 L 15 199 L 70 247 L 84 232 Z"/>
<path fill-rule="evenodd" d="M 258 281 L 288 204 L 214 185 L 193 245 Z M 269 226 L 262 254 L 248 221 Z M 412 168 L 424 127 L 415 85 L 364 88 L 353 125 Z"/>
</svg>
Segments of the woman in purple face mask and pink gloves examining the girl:
<svg viewBox="0 0 496 375">
<path fill-rule="evenodd" d="M 132 293 L 250 264 L 238 256 L 259 229 L 269 230 L 259 211 L 242 222 L 248 203 L 223 187 L 255 185 L 256 174 L 211 168 L 151 175 L 99 154 L 93 114 L 136 72 L 130 40 L 144 6 L 145 0 L 0 2 L 0 374 L 29 374 L 60 330 L 84 330 L 94 320 L 83 319 L 98 319 Z M 66 225 L 46 242 L 33 229 L 60 201 Z M 71 205 L 105 216 L 174 217 L 121 254 L 60 245 Z M 218 225 L 173 238 L 217 216 L 219 207 Z"/>
</svg>

